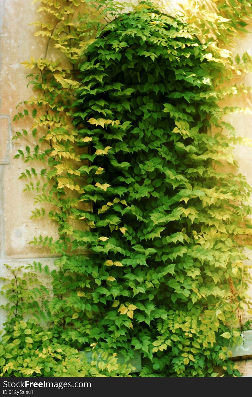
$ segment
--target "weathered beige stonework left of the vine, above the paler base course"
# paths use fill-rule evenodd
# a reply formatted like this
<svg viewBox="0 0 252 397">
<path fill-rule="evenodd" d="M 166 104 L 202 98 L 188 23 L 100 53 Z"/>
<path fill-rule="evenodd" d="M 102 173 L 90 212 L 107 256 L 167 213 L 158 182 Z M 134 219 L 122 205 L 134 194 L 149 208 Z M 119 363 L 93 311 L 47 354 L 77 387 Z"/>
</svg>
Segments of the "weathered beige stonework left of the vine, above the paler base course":
<svg viewBox="0 0 252 397">
<path fill-rule="evenodd" d="M 1 75 L 0 75 L 0 164 L 9 163 L 2 169 L 2 258 L 32 258 L 37 256 L 51 256 L 49 249 L 34 247 L 29 244 L 33 237 L 48 235 L 58 239 L 58 225 L 50 222 L 48 218 L 31 220 L 31 211 L 35 206 L 33 194 L 24 193 L 23 189 L 27 181 L 18 177 L 25 168 L 30 165 L 21 160 L 13 160 L 18 149 L 25 151 L 25 146 L 31 148 L 36 143 L 28 135 L 27 140 L 12 141 L 12 135 L 16 131 L 31 129 L 30 117 L 13 122 L 15 114 L 22 110 L 22 105 L 16 109 L 17 104 L 26 100 L 32 94 L 31 86 L 27 89 L 27 75 L 31 69 L 26 69 L 21 62 L 52 56 L 53 48 L 47 37 L 35 37 L 37 27 L 29 25 L 38 19 L 37 4 L 30 0 L 3 1 L 1 4 L 2 20 L 1 31 Z M 49 45 L 48 45 L 49 44 Z M 34 72 L 32 70 L 32 72 Z M 4 117 L 1 118 L 1 115 Z M 11 126 L 10 123 L 11 122 Z M 36 168 L 40 165 L 36 164 Z M 41 167 L 44 168 L 44 167 Z M 39 207 L 39 205 L 37 205 Z M 53 255 L 52 255 L 53 256 Z"/>
</svg>

